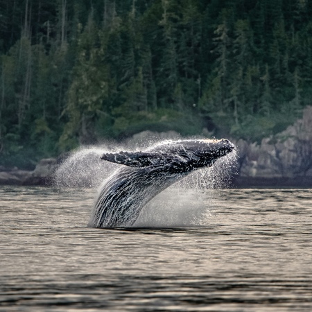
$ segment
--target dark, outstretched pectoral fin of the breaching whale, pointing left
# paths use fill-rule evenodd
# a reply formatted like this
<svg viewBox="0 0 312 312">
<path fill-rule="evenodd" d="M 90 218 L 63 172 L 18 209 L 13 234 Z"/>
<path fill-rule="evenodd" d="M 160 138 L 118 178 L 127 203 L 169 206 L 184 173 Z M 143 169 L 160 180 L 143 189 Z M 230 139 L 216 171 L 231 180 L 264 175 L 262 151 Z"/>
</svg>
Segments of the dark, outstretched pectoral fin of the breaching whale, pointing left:
<svg viewBox="0 0 312 312">
<path fill-rule="evenodd" d="M 157 166 L 167 161 L 162 154 L 146 152 L 104 153 L 101 159 L 130 167 Z"/>
</svg>

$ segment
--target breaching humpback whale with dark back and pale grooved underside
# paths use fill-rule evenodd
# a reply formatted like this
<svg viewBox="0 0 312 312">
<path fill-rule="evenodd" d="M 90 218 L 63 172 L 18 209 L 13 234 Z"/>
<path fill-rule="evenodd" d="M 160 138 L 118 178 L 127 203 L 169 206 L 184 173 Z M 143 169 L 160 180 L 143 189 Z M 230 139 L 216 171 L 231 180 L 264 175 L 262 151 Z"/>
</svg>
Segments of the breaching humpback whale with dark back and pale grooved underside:
<svg viewBox="0 0 312 312">
<path fill-rule="evenodd" d="M 104 153 L 101 159 L 125 166 L 103 182 L 88 226 L 133 225 L 158 193 L 233 149 L 227 139 L 189 139 L 165 141 L 144 152 Z"/>
</svg>

